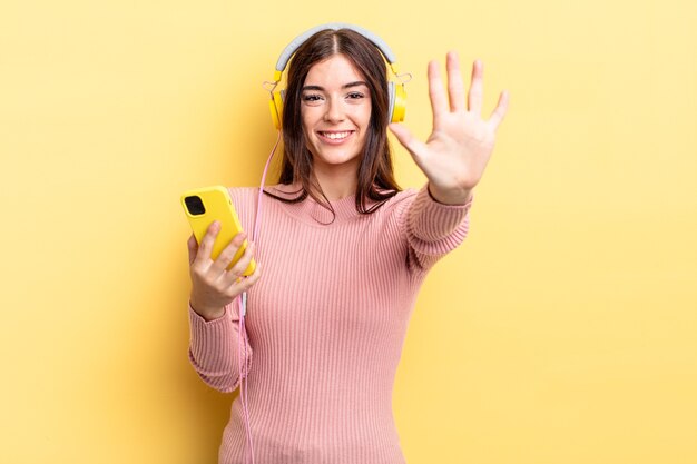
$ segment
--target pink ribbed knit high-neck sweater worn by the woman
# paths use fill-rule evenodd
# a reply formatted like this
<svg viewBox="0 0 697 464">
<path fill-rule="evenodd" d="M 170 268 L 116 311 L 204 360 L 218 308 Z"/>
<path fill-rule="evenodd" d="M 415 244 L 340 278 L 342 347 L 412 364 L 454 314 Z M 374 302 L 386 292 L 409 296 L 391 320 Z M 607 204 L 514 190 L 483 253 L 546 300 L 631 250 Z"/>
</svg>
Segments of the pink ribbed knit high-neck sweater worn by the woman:
<svg viewBox="0 0 697 464">
<path fill-rule="evenodd" d="M 257 194 L 230 189 L 249 233 Z M 330 225 L 311 198 L 262 201 L 263 274 L 245 318 L 256 464 L 403 464 L 392 388 L 406 327 L 426 272 L 464 239 L 471 201 L 441 205 L 424 187 L 361 215 L 351 196 L 332 203 Z M 189 306 L 190 361 L 222 392 L 239 385 L 236 308 L 205 322 Z M 237 397 L 219 463 L 242 464 L 244 444 Z"/>
</svg>

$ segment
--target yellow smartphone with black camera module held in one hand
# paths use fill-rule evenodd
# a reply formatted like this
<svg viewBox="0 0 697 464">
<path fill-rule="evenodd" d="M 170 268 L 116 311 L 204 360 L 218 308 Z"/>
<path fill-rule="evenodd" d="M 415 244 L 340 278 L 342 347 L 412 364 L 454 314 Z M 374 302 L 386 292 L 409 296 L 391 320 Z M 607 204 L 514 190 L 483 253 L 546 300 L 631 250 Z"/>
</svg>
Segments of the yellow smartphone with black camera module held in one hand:
<svg viewBox="0 0 697 464">
<path fill-rule="evenodd" d="M 212 259 L 216 259 L 220 251 L 230 243 L 233 237 L 243 231 L 242 224 L 235 211 L 235 206 L 233 205 L 233 199 L 225 187 L 214 186 L 188 190 L 181 195 L 181 206 L 184 206 L 186 218 L 192 226 L 192 230 L 198 244 L 200 244 L 204 235 L 206 235 L 206 230 L 214 220 L 220 223 L 220 231 L 215 239 L 213 251 L 210 253 Z M 233 261 L 227 267 L 228 269 L 242 258 L 246 248 L 247 240 L 245 239 L 235 254 Z M 255 268 L 256 263 L 252 259 L 249 266 L 247 266 L 247 269 L 243 273 L 243 276 L 252 275 Z"/>
</svg>

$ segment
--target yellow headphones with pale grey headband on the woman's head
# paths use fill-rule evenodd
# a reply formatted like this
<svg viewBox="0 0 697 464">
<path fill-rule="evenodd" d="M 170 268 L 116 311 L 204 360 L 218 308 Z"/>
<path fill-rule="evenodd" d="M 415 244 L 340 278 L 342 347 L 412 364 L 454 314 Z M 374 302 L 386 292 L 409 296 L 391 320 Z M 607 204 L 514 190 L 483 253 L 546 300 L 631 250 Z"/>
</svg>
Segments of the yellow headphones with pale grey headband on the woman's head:
<svg viewBox="0 0 697 464">
<path fill-rule="evenodd" d="M 269 89 L 269 92 L 271 92 L 269 108 L 271 108 L 272 120 L 274 121 L 274 126 L 276 127 L 277 130 L 281 130 L 281 128 L 283 127 L 282 116 L 283 116 L 283 99 L 285 96 L 285 89 L 283 90 L 275 90 L 275 89 L 276 89 L 276 86 L 278 86 L 278 82 L 281 82 L 281 77 L 283 76 L 283 71 L 285 71 L 285 68 L 288 65 L 288 61 L 291 61 L 291 58 L 293 57 L 295 51 L 316 32 L 320 32 L 323 30 L 338 30 L 338 29 L 351 29 L 352 31 L 360 33 L 361 36 L 365 37 L 367 40 L 373 42 L 373 45 L 377 47 L 377 49 L 382 52 L 382 56 L 385 58 L 385 60 L 390 65 L 392 75 L 396 78 L 401 78 L 401 76 L 397 73 L 396 59 L 394 57 L 394 53 L 380 37 L 357 26 L 346 24 L 343 22 L 332 22 L 327 24 L 316 26 L 301 33 L 295 39 L 293 39 L 291 43 L 286 46 L 286 48 L 281 53 L 278 61 L 276 61 L 276 71 L 274 72 L 274 81 L 266 82 L 268 85 L 273 85 L 273 88 Z M 408 76 L 411 77 L 410 75 Z M 402 122 L 404 120 L 404 113 L 406 111 L 406 91 L 404 89 L 404 81 L 395 82 L 393 80 L 390 80 L 387 83 L 387 91 L 390 95 L 390 109 L 387 112 L 390 115 L 390 122 Z"/>
</svg>

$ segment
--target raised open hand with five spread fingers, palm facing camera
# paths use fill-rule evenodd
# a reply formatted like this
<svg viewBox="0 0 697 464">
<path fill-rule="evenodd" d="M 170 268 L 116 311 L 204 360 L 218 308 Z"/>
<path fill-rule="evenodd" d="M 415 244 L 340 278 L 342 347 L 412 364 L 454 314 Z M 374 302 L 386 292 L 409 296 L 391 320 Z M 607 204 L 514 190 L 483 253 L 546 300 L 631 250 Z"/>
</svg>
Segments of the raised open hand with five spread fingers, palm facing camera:
<svg viewBox="0 0 697 464">
<path fill-rule="evenodd" d="M 409 150 L 429 179 L 429 190 L 440 203 L 462 205 L 479 184 L 491 152 L 495 132 L 508 110 L 509 93 L 501 92 L 489 119 L 481 117 L 483 100 L 483 65 L 474 61 L 472 83 L 465 107 L 464 85 L 454 52 L 448 53 L 448 95 L 443 88 L 438 62 L 429 62 L 429 96 L 433 110 L 433 130 L 424 142 L 401 124 L 390 130 Z M 450 103 L 449 103 L 450 101 Z"/>
</svg>

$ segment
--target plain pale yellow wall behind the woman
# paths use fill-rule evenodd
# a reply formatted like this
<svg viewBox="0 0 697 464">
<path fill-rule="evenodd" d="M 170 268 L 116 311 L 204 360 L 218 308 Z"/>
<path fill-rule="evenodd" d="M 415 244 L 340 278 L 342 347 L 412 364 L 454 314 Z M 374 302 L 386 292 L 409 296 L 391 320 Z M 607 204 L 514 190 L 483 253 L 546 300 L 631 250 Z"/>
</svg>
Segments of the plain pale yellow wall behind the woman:
<svg viewBox="0 0 697 464">
<path fill-rule="evenodd" d="M 481 58 L 487 115 L 511 92 L 408 335 L 408 462 L 697 463 L 696 4 L 3 1 L 0 461 L 215 462 L 232 396 L 188 365 L 178 197 L 258 182 L 261 82 L 341 20 L 414 75 L 422 138 L 429 59 Z"/>
</svg>

